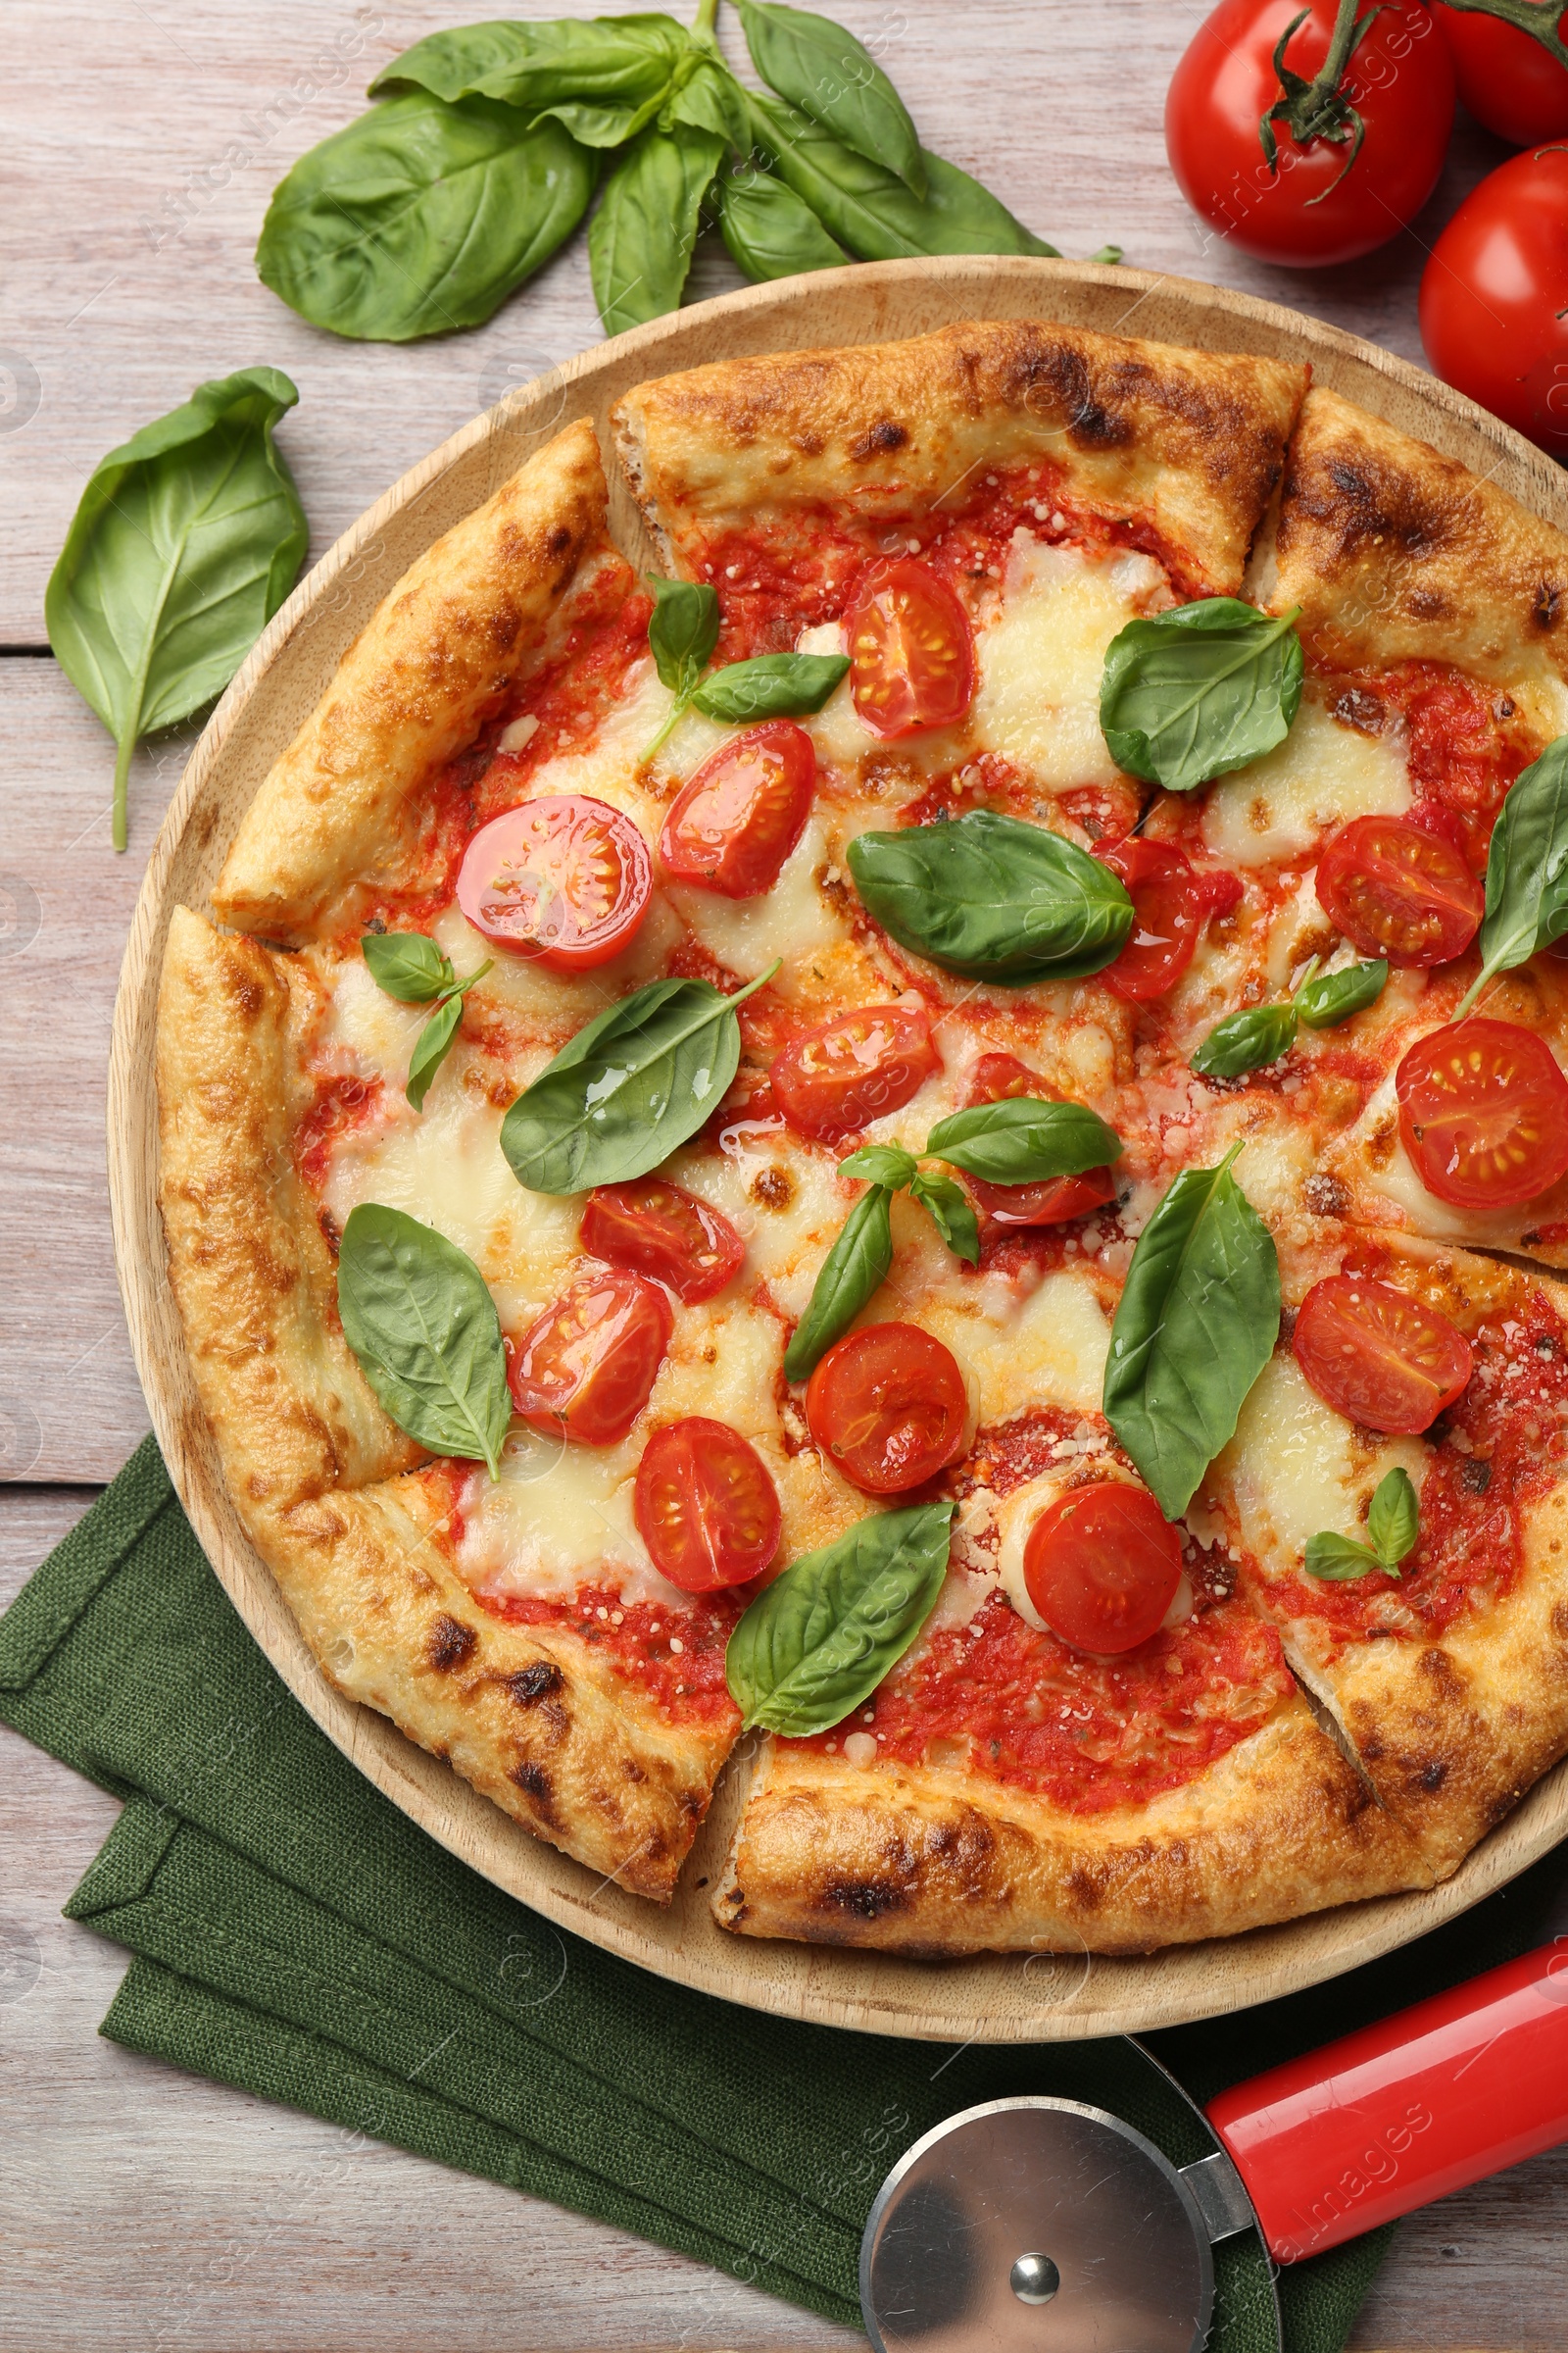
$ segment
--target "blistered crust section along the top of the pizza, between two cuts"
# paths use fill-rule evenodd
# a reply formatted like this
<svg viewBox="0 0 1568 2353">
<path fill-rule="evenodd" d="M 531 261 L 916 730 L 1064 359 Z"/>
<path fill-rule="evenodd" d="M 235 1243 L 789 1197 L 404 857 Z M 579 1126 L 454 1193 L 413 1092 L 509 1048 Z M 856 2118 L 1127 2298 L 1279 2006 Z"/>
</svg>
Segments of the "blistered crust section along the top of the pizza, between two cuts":
<svg viewBox="0 0 1568 2353">
<path fill-rule="evenodd" d="M 1237 593 L 1305 367 L 973 320 L 905 344 L 719 360 L 642 384 L 616 447 L 665 560 L 717 532 L 839 508 L 860 529 L 952 506 L 980 466 L 1044 461 L 1063 494 L 1152 527 L 1182 586 Z"/>
</svg>

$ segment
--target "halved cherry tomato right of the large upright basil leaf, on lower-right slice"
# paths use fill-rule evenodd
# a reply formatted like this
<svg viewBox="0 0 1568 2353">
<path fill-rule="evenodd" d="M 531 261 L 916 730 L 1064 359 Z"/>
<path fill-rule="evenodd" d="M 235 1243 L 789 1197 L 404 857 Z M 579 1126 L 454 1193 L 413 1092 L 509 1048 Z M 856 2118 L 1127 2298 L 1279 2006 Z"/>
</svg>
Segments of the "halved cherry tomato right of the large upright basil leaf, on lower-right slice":
<svg viewBox="0 0 1568 2353">
<path fill-rule="evenodd" d="M 1446 1315 L 1359 1275 L 1312 1285 L 1291 1346 L 1324 1405 L 1389 1438 L 1429 1428 L 1469 1381 L 1469 1341 Z"/>
</svg>

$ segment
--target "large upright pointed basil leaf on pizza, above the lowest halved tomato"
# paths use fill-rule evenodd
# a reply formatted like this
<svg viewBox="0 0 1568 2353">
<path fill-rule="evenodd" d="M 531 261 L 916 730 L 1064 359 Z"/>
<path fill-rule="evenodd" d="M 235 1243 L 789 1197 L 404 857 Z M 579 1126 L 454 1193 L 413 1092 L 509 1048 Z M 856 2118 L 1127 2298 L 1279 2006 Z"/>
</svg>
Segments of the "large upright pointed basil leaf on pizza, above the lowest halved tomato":
<svg viewBox="0 0 1568 2353">
<path fill-rule="evenodd" d="M 1274 1238 L 1232 1160 L 1175 1179 L 1138 1235 L 1110 1334 L 1105 1419 L 1166 1520 L 1234 1435 L 1279 1337 Z"/>
</svg>

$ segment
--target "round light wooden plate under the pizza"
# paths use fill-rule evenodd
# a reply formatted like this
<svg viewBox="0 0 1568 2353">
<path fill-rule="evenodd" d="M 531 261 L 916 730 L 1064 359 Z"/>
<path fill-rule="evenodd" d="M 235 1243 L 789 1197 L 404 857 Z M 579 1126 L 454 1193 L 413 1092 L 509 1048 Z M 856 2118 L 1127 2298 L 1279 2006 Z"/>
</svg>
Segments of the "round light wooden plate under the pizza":
<svg viewBox="0 0 1568 2353">
<path fill-rule="evenodd" d="M 1568 1833 L 1568 1760 L 1427 1894 L 1131 1960 L 1037 1953 L 914 1962 L 729 1937 L 712 1922 L 705 1889 L 745 1786 L 745 1758 L 736 1758 L 672 1906 L 658 1911 L 529 1838 L 383 1715 L 353 1706 L 322 1678 L 223 1487 L 165 1273 L 155 1191 L 153 1026 L 169 911 L 176 904 L 209 911 L 240 814 L 404 567 L 571 419 L 592 416 L 609 449 L 611 400 L 646 376 L 741 353 L 877 344 L 964 318 L 1056 318 L 1166 344 L 1309 360 L 1319 384 L 1422 435 L 1568 529 L 1559 468 L 1446 384 L 1295 311 L 1182 278 L 1072 261 L 886 261 L 752 287 L 623 334 L 510 393 L 395 482 L 301 581 L 216 706 L 153 849 L 125 953 L 108 1073 L 108 1176 L 132 1346 L 179 1497 L 261 1649 L 393 1805 L 536 1913 L 682 1986 L 825 2026 L 1034 2042 L 1138 2033 L 1241 2009 L 1408 1944 L 1502 1887 Z M 628 555 L 651 562 L 614 464 L 609 478 L 616 536 Z"/>
</svg>

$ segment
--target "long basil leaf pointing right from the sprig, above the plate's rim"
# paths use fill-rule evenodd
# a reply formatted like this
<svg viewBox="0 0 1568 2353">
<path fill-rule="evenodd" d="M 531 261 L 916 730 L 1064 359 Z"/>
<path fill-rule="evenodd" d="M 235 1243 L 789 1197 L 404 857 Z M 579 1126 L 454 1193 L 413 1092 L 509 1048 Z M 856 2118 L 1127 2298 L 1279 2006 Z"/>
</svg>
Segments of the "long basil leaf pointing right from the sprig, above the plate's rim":
<svg viewBox="0 0 1568 2353">
<path fill-rule="evenodd" d="M 914 254 L 1056 254 L 1056 245 L 1046 245 L 1016 221 L 990 188 L 931 148 L 922 148 L 926 167 L 922 202 L 896 172 L 856 155 L 799 108 L 780 106 L 778 99 L 752 89 L 745 99 L 771 169 L 856 261 L 903 261 Z"/>
</svg>

